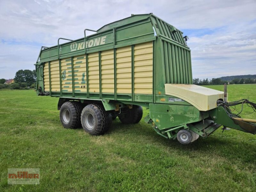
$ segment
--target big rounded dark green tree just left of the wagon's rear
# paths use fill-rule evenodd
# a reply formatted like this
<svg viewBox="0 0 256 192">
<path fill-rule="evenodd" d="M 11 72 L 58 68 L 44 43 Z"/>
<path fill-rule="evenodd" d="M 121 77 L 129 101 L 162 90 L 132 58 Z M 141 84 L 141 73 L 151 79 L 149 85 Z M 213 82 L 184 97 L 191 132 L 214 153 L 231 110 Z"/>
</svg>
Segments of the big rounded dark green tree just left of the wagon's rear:
<svg viewBox="0 0 256 192">
<path fill-rule="evenodd" d="M 30 86 L 33 83 L 36 83 L 36 70 L 19 70 L 16 72 L 14 81 L 16 83 L 26 83 L 27 86 Z"/>
</svg>

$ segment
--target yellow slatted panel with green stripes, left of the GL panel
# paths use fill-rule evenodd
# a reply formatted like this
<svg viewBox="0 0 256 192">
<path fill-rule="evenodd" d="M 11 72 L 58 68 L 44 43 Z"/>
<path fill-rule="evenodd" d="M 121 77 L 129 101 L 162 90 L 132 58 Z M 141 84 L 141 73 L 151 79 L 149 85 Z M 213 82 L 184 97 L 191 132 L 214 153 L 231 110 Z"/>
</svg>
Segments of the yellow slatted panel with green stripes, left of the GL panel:
<svg viewBox="0 0 256 192">
<path fill-rule="evenodd" d="M 62 92 L 72 92 L 72 65 L 71 58 L 60 60 Z"/>
</svg>

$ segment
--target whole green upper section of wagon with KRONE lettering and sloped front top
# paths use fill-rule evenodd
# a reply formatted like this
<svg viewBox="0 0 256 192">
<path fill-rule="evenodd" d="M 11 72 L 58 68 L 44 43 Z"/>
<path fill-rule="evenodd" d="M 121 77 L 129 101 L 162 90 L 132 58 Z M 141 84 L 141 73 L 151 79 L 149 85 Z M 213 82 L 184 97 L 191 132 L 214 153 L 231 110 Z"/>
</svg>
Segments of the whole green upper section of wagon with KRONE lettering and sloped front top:
<svg viewBox="0 0 256 192">
<path fill-rule="evenodd" d="M 59 38 L 58 45 L 42 47 L 37 62 L 39 58 L 40 61 L 48 61 L 70 54 L 78 55 L 113 48 L 113 46 L 120 47 L 141 43 L 142 41 L 152 41 L 156 38 L 155 36 L 166 42 L 188 48 L 180 30 L 150 13 L 132 15 L 109 23 L 98 29 L 97 33 L 73 41 L 67 38 Z M 59 44 L 60 39 L 69 41 Z"/>
</svg>

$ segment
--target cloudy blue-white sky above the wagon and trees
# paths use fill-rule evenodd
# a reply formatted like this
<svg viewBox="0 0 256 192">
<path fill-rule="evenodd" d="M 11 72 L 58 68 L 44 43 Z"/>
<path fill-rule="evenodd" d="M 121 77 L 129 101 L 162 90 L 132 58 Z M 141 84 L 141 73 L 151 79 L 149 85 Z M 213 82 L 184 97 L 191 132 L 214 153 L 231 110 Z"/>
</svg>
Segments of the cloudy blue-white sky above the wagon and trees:
<svg viewBox="0 0 256 192">
<path fill-rule="evenodd" d="M 256 74 L 255 0 L 0 0 L 0 78 L 33 70 L 41 46 L 59 37 L 151 12 L 189 36 L 193 78 Z"/>
</svg>

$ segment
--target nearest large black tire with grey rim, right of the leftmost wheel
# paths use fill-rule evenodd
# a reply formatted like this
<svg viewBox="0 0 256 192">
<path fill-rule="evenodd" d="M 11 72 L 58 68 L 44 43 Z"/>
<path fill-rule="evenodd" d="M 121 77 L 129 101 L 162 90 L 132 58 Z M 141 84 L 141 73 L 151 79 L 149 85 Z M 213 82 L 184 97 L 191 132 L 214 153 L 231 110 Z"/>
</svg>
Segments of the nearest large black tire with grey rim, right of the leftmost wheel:
<svg viewBox="0 0 256 192">
<path fill-rule="evenodd" d="M 101 104 L 89 104 L 82 111 L 81 123 L 84 131 L 92 135 L 101 135 L 108 131 L 112 116 Z"/>
</svg>

